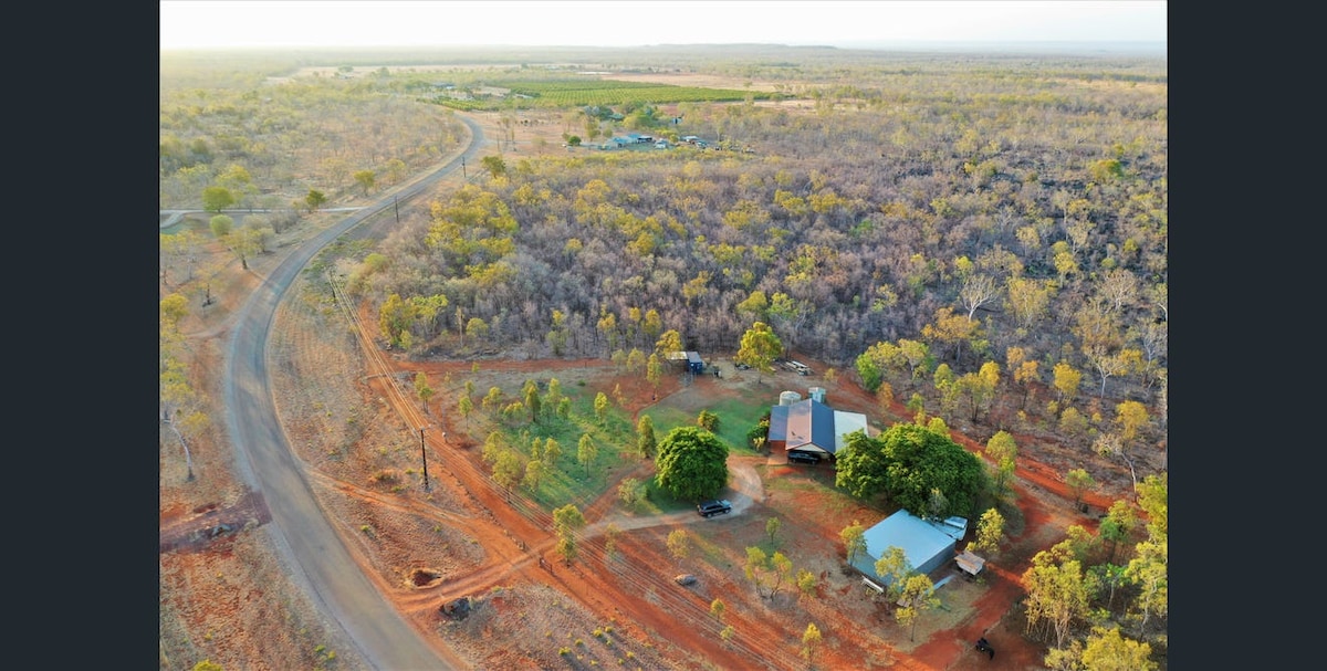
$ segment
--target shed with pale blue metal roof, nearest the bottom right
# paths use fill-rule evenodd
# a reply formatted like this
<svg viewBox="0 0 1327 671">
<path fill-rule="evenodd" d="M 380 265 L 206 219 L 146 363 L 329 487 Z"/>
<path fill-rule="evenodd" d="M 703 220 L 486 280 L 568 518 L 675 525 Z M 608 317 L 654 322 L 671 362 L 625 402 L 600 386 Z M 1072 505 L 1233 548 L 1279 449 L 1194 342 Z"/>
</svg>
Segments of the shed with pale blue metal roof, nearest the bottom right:
<svg viewBox="0 0 1327 671">
<path fill-rule="evenodd" d="M 868 578 L 889 585 L 889 578 L 876 574 L 876 561 L 889 548 L 902 548 L 904 557 L 917 573 L 930 573 L 954 557 L 954 546 L 967 533 L 967 520 L 922 520 L 908 511 L 898 511 L 867 529 L 867 550 L 852 561 Z"/>
</svg>

